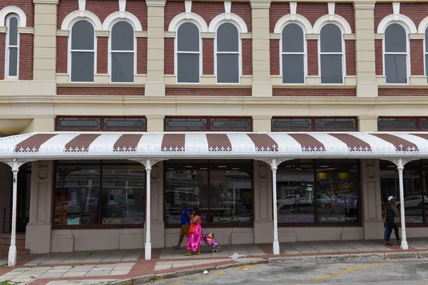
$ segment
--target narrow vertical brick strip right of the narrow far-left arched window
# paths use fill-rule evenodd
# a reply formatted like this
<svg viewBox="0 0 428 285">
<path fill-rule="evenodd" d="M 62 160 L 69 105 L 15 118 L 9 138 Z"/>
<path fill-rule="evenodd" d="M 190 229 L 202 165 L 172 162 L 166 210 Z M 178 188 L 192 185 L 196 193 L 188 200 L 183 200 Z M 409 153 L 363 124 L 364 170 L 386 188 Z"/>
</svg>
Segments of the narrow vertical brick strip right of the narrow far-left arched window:
<svg viewBox="0 0 428 285">
<path fill-rule="evenodd" d="M 19 35 L 19 79 L 33 80 L 33 37 L 30 33 Z"/>
</svg>

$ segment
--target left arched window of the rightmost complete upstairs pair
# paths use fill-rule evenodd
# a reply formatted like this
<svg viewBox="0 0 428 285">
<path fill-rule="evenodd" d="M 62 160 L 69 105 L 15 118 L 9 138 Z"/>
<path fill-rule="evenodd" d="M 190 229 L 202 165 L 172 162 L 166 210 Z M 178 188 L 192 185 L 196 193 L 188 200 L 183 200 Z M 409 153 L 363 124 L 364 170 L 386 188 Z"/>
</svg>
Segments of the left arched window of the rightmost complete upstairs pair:
<svg viewBox="0 0 428 285">
<path fill-rule="evenodd" d="M 305 36 L 297 24 L 282 29 L 282 83 L 305 83 Z"/>
</svg>

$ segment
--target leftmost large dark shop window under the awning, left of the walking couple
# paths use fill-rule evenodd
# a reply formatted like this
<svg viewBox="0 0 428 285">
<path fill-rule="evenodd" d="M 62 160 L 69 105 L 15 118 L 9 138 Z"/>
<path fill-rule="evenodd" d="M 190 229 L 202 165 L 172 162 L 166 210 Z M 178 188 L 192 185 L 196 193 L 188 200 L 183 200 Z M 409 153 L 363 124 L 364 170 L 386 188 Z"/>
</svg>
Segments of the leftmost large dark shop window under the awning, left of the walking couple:
<svg viewBox="0 0 428 285">
<path fill-rule="evenodd" d="M 144 224 L 146 170 L 119 162 L 56 163 L 55 226 Z"/>
</svg>

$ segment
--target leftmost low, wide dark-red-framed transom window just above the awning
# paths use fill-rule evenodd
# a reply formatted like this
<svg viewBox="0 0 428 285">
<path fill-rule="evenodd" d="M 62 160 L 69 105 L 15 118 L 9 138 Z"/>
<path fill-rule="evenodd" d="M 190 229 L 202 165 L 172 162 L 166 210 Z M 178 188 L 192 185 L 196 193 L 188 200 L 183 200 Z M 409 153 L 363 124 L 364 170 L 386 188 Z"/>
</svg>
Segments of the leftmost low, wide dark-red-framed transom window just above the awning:
<svg viewBox="0 0 428 285">
<path fill-rule="evenodd" d="M 146 131 L 146 118 L 128 117 L 58 117 L 56 130 Z"/>
</svg>

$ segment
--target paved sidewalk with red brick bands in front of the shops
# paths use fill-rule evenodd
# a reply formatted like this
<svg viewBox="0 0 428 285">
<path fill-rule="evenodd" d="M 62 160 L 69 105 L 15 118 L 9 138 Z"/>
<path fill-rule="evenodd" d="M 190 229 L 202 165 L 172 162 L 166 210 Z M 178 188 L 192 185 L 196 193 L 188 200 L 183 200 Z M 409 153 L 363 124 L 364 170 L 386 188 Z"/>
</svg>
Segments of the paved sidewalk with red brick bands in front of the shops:
<svg viewBox="0 0 428 285">
<path fill-rule="evenodd" d="M 427 258 L 428 239 L 409 239 L 409 250 L 398 245 L 385 247 L 382 241 L 295 242 L 280 244 L 281 254 L 272 255 L 272 244 L 225 245 L 218 254 L 203 245 L 201 254 L 185 257 L 185 249 L 153 249 L 150 261 L 142 249 L 29 255 L 18 266 L 0 266 L 0 282 L 19 284 L 143 284 L 231 266 L 278 261 L 382 260 Z M 231 259 L 234 253 L 245 258 Z M 7 259 L 1 258 L 0 265 Z"/>
</svg>

